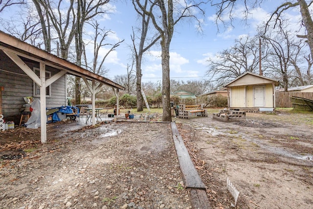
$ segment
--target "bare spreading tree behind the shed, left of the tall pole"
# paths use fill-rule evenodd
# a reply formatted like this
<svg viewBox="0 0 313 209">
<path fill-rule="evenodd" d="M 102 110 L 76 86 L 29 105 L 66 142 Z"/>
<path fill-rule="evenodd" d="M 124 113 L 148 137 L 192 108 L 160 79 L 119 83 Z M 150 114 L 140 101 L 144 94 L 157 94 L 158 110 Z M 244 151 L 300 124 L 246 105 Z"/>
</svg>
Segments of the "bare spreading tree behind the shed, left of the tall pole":
<svg viewBox="0 0 313 209">
<path fill-rule="evenodd" d="M 249 71 L 253 72 L 259 64 L 258 37 L 245 36 L 235 40 L 235 45 L 210 58 L 206 75 L 216 86 L 223 86 L 230 80 Z"/>
</svg>

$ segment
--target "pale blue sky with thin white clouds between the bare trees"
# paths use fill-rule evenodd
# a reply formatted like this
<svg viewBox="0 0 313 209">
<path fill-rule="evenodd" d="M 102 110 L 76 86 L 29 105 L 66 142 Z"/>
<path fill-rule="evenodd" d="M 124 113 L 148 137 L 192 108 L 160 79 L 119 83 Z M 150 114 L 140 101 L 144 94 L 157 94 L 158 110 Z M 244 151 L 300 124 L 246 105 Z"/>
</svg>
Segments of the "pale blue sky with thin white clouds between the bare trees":
<svg viewBox="0 0 313 209">
<path fill-rule="evenodd" d="M 114 10 L 105 17 L 97 21 L 106 29 L 114 33 L 108 36 L 108 42 L 117 43 L 119 40 L 125 40 L 106 58 L 104 65 L 109 72 L 104 75 L 109 79 L 114 76 L 127 74 L 127 65 L 132 64 L 131 34 L 132 27 L 137 27 L 137 14 L 134 10 L 131 0 L 111 1 Z M 241 1 L 240 1 L 241 2 Z M 238 5 L 234 10 L 234 27 L 224 27 L 215 23 L 215 7 L 207 4 L 203 7 L 205 17 L 203 19 L 202 33 L 199 33 L 195 23 L 184 21 L 175 25 L 175 33 L 170 45 L 170 77 L 176 80 L 201 80 L 206 79 L 208 70 L 208 58 L 215 58 L 216 53 L 233 46 L 235 39 L 249 34 L 256 34 L 257 25 L 264 23 L 269 15 L 280 5 L 282 0 L 265 0 L 262 8 L 250 10 L 250 15 L 246 23 L 242 22 L 243 6 Z M 16 9 L 16 8 L 15 8 Z M 7 17 L 12 13 L 13 8 L 2 12 L 0 17 Z M 291 11 L 289 11 L 291 12 Z M 299 15 L 298 12 L 296 12 Z M 298 17 L 295 17 L 297 19 Z M 224 17 L 228 20 L 228 17 Z M 2 30 L 2 29 L 1 29 Z M 86 28 L 86 33 L 90 33 Z M 92 33 L 92 32 L 91 32 Z M 92 52 L 92 48 L 89 48 Z M 104 56 L 109 48 L 102 48 L 100 56 Z M 146 53 L 142 62 L 142 82 L 152 81 L 154 83 L 161 81 L 161 57 L 159 42 Z"/>
</svg>

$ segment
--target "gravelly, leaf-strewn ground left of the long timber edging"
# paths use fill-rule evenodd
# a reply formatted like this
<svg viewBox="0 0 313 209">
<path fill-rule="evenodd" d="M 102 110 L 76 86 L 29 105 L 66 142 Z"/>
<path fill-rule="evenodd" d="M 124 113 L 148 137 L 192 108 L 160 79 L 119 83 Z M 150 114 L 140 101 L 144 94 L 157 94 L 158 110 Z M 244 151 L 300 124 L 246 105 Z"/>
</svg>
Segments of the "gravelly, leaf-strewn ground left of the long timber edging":
<svg viewBox="0 0 313 209">
<path fill-rule="evenodd" d="M 74 123 L 0 133 L 1 209 L 191 209 L 169 123 Z"/>
</svg>

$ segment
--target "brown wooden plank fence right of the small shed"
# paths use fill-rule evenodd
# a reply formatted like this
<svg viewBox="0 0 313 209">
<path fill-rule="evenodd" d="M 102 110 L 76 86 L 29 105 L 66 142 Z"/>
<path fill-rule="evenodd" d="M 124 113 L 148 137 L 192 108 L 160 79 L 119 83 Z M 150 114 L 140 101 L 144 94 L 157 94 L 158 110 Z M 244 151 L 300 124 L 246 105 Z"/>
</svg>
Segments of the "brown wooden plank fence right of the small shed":
<svg viewBox="0 0 313 209">
<path fill-rule="evenodd" d="M 276 107 L 292 107 L 290 96 L 297 96 L 313 100 L 313 92 L 276 92 Z"/>
</svg>

